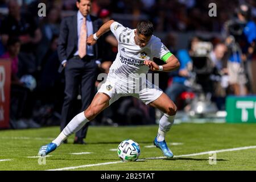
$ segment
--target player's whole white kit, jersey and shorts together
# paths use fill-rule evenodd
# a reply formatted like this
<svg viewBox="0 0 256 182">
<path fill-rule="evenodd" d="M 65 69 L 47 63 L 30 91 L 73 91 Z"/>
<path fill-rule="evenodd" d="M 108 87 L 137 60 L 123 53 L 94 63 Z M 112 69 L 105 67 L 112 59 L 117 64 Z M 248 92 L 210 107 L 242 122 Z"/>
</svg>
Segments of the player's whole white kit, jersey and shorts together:
<svg viewBox="0 0 256 182">
<path fill-rule="evenodd" d="M 106 82 L 98 92 L 108 94 L 109 104 L 123 96 L 133 96 L 145 104 L 156 100 L 163 91 L 146 80 L 149 68 L 143 63 L 144 60 L 153 60 L 153 57 L 162 58 L 170 51 L 154 35 L 145 47 L 139 47 L 134 41 L 134 30 L 118 22 L 112 23 L 110 29 L 118 40 L 118 53 Z M 142 78 L 142 75 L 145 77 Z"/>
</svg>

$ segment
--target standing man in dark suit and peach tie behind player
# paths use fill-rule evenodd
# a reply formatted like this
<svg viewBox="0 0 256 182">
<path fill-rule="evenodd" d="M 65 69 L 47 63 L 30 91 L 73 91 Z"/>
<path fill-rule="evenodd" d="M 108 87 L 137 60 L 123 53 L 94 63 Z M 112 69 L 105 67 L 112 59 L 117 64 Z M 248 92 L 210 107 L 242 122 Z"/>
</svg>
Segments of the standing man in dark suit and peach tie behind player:
<svg viewBox="0 0 256 182">
<path fill-rule="evenodd" d="M 86 39 L 98 31 L 102 21 L 89 14 L 90 0 L 77 0 L 76 6 L 79 9 L 77 14 L 64 18 L 60 27 L 58 55 L 61 66 L 59 72 L 63 69 L 65 71 L 65 98 L 61 114 L 61 131 L 80 112 L 75 110 L 79 91 L 82 99 L 81 111 L 85 110 L 92 101 L 96 68 L 101 57 L 101 43 L 88 46 Z M 85 125 L 77 131 L 75 144 L 85 144 L 83 139 L 86 137 L 87 130 L 88 125 Z M 64 143 L 67 143 L 67 140 Z"/>
</svg>

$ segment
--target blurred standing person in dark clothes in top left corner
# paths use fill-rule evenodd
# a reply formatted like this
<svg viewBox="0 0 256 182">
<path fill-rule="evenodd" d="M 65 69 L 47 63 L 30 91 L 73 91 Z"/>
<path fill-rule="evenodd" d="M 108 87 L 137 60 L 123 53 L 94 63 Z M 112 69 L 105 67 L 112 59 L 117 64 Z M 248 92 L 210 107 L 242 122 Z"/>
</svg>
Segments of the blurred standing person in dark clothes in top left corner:
<svg viewBox="0 0 256 182">
<path fill-rule="evenodd" d="M 9 15 L 3 20 L 1 27 L 2 42 L 6 45 L 9 38 L 18 36 L 21 47 L 19 54 L 18 75 L 36 72 L 35 48 L 42 34 L 33 17 L 20 13 L 20 5 L 15 0 L 8 3 Z"/>
</svg>

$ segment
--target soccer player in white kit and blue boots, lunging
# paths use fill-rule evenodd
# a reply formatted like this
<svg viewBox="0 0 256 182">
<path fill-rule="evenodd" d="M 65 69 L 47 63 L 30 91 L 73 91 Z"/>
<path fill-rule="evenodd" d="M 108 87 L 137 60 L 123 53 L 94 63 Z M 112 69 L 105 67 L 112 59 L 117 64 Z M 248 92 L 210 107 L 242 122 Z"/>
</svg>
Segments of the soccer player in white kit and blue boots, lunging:
<svg viewBox="0 0 256 182">
<path fill-rule="evenodd" d="M 45 156 L 54 151 L 71 134 L 80 130 L 85 123 L 92 121 L 97 114 L 118 98 L 133 96 L 164 112 L 159 121 L 158 134 L 154 144 L 162 150 L 164 156 L 168 158 L 174 156 L 166 144 L 165 136 L 174 123 L 176 105 L 158 86 L 150 84 L 147 80 L 139 83 L 138 92 L 131 91 L 140 80 L 139 74 L 146 74 L 149 69 L 151 71 L 174 71 L 180 67 L 179 60 L 172 55 L 159 38 L 152 35 L 154 28 L 149 21 L 139 22 L 137 28 L 131 30 L 114 20 L 109 20 L 95 34 L 89 36 L 88 45 L 95 44 L 97 39 L 109 30 L 118 40 L 118 53 L 110 67 L 106 82 L 101 85 L 90 106 L 82 113 L 77 114 L 55 140 L 42 146 L 38 155 Z M 154 63 L 153 57 L 162 59 L 166 64 Z"/>
</svg>

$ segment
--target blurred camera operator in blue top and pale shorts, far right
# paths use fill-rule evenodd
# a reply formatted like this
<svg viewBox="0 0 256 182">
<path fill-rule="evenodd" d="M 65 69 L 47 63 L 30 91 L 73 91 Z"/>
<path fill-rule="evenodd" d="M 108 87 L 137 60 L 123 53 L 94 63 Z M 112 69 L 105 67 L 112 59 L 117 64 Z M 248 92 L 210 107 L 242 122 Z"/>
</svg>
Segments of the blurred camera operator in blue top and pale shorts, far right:
<svg viewBox="0 0 256 182">
<path fill-rule="evenodd" d="M 226 45 L 229 48 L 229 84 L 236 95 L 244 95 L 250 90 L 250 60 L 255 49 L 256 25 L 250 20 L 251 10 L 241 4 L 236 10 L 236 19 L 225 23 L 228 33 Z M 249 68 L 249 69 L 248 69 Z"/>
</svg>

